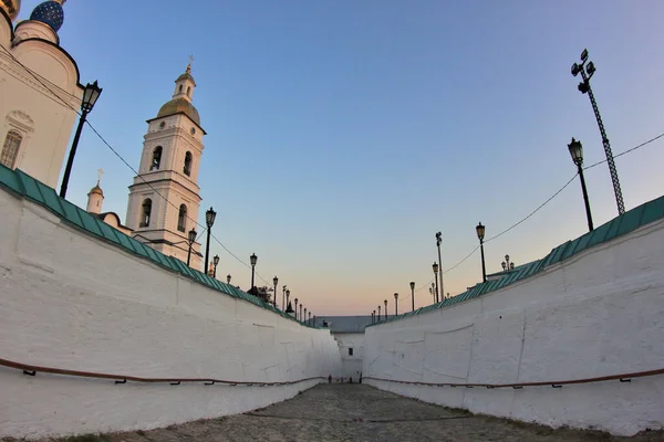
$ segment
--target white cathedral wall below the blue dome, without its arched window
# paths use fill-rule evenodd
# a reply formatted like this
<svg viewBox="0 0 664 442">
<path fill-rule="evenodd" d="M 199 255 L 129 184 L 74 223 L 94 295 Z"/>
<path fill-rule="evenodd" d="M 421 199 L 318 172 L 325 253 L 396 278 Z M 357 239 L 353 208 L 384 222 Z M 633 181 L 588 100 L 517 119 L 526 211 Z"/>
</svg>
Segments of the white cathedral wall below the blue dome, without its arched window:
<svg viewBox="0 0 664 442">
<path fill-rule="evenodd" d="M 0 148 L 10 129 L 21 133 L 14 167 L 55 188 L 77 116 L 53 94 L 77 109 L 83 92 L 73 64 L 56 48 L 28 41 L 11 52 L 41 83 L 0 51 Z"/>
</svg>

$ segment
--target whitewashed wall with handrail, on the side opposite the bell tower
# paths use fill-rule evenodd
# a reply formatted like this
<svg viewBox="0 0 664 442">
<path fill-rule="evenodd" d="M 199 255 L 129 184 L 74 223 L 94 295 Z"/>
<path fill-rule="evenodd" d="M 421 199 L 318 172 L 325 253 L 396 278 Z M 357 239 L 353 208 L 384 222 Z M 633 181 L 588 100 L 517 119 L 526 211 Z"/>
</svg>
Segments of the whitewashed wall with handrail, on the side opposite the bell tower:
<svg viewBox="0 0 664 442">
<path fill-rule="evenodd" d="M 664 368 L 664 222 L 536 277 L 455 306 L 366 328 L 364 376 L 455 383 L 569 380 Z M 476 413 L 601 429 L 664 427 L 664 376 L 523 389 L 363 380 Z"/>
</svg>

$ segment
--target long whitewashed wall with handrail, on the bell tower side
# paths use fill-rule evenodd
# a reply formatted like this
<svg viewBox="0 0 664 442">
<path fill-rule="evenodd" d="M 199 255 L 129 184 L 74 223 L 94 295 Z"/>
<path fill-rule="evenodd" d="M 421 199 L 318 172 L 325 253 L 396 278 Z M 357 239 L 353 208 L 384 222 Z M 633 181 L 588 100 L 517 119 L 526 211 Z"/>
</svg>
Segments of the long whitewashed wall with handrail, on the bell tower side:
<svg viewBox="0 0 664 442">
<path fill-rule="evenodd" d="M 300 326 L 76 231 L 0 189 L 0 357 L 139 377 L 336 376 L 329 330 Z M 141 385 L 0 367 L 0 436 L 151 429 L 295 396 L 280 387 Z"/>
</svg>

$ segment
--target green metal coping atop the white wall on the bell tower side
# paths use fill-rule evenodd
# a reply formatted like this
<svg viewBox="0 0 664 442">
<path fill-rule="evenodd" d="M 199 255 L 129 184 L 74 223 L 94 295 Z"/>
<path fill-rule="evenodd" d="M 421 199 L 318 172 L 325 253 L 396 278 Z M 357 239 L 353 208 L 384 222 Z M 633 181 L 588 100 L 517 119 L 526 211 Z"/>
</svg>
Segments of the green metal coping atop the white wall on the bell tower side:
<svg viewBox="0 0 664 442">
<path fill-rule="evenodd" d="M 85 210 L 72 204 L 71 202 L 60 198 L 55 190 L 48 187 L 46 185 L 35 180 L 29 175 L 21 170 L 11 170 L 0 165 L 0 187 L 9 190 L 18 197 L 27 198 L 53 212 L 60 217 L 68 224 L 84 231 L 87 234 L 107 241 L 115 246 L 125 250 L 134 255 L 141 256 L 145 260 L 152 261 L 153 263 L 175 273 L 194 280 L 195 282 L 207 286 L 214 291 L 220 292 L 225 295 L 245 299 L 253 305 L 263 307 L 268 311 L 283 316 L 284 318 L 297 320 L 287 313 L 274 308 L 271 304 L 242 292 L 232 285 L 226 284 L 221 281 L 215 280 L 203 272 L 194 270 L 173 256 L 166 256 L 165 254 L 157 252 L 156 250 L 143 244 L 141 241 L 133 239 L 118 230 L 113 229 L 96 217 L 87 213 Z M 298 322 L 304 327 L 320 328 L 308 326 Z"/>
</svg>

